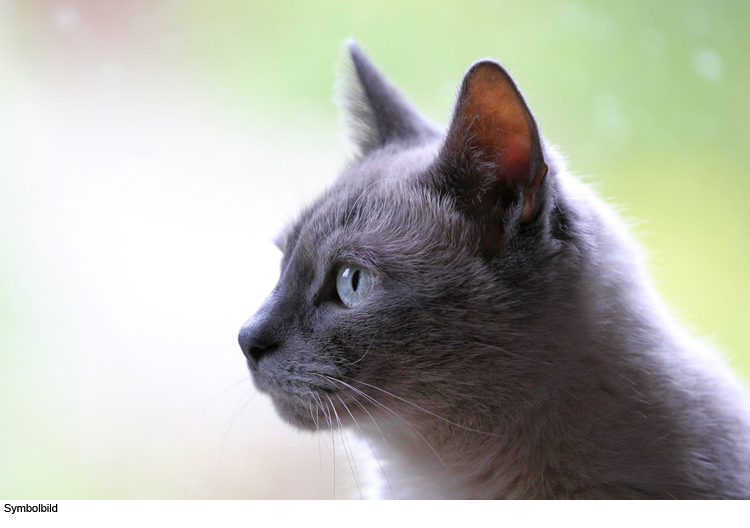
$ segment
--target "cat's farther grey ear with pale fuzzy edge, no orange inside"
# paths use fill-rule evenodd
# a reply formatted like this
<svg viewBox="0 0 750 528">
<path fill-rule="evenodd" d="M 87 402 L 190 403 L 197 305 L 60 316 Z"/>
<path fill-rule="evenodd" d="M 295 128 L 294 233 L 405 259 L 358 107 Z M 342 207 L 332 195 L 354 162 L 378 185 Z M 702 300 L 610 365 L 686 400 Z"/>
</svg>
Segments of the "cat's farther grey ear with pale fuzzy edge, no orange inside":
<svg viewBox="0 0 750 528">
<path fill-rule="evenodd" d="M 390 143 L 418 143 L 440 131 L 378 70 L 353 40 L 340 90 L 346 128 L 361 154 Z"/>
</svg>

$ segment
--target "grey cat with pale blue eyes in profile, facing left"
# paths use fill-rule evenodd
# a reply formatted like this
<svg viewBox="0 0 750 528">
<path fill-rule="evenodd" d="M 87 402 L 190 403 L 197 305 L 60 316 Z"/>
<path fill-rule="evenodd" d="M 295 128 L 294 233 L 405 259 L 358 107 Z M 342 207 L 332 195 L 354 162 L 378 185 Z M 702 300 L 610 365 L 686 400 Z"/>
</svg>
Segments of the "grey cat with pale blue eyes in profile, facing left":
<svg viewBox="0 0 750 528">
<path fill-rule="evenodd" d="M 447 131 L 356 43 L 358 153 L 279 237 L 241 328 L 301 429 L 364 437 L 396 498 L 750 498 L 750 404 L 492 60 Z"/>
</svg>

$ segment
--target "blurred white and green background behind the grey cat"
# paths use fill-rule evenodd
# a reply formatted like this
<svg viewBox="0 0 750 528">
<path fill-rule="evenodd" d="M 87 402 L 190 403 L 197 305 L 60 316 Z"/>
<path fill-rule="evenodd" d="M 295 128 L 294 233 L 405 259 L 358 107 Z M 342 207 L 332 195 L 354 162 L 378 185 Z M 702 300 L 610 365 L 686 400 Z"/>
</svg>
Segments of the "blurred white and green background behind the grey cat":
<svg viewBox="0 0 750 528">
<path fill-rule="evenodd" d="M 745 0 L 0 0 L 0 496 L 359 497 L 236 342 L 349 159 L 349 37 L 441 123 L 505 64 L 747 382 L 748 28 Z"/>
</svg>

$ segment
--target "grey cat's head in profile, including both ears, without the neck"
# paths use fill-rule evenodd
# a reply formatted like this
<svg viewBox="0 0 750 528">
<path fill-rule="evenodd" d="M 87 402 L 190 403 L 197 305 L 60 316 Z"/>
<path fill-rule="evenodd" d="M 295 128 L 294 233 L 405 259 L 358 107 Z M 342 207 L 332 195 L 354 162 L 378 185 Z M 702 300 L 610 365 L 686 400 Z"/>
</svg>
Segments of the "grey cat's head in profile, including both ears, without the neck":
<svg viewBox="0 0 750 528">
<path fill-rule="evenodd" d="M 529 347 L 559 246 L 554 163 L 496 62 L 466 73 L 445 133 L 349 50 L 359 155 L 282 233 L 281 276 L 240 346 L 300 427 L 335 427 L 331 411 L 484 427 L 469 407 L 517 397 L 544 363 Z"/>
</svg>

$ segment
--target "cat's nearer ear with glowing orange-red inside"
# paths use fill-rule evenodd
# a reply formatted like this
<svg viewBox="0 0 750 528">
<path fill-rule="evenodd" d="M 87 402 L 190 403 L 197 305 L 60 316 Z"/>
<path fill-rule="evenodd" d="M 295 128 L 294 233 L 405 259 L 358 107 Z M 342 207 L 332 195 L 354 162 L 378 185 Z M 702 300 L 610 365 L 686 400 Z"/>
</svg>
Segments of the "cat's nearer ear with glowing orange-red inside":
<svg viewBox="0 0 750 528">
<path fill-rule="evenodd" d="M 531 221 L 547 174 L 534 118 L 498 63 L 474 64 L 463 79 L 448 136 L 438 158 L 440 186 L 486 226 L 514 213 Z"/>
</svg>

